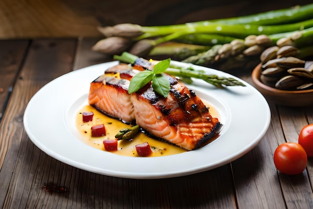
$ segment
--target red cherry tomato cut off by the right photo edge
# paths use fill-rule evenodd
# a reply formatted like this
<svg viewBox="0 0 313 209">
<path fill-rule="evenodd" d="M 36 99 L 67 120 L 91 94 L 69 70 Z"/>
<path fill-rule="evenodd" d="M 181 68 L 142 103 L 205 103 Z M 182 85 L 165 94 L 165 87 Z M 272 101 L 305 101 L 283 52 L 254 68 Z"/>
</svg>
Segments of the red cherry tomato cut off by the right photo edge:
<svg viewBox="0 0 313 209">
<path fill-rule="evenodd" d="M 301 129 L 298 143 L 304 148 L 307 156 L 313 156 L 313 124 L 306 125 Z"/>
</svg>

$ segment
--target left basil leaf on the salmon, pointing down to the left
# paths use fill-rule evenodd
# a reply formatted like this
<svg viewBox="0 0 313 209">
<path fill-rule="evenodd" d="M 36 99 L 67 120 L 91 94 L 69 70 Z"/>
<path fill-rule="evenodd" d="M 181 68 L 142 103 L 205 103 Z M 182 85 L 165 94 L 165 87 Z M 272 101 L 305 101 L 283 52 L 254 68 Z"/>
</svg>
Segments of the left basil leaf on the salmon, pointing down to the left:
<svg viewBox="0 0 313 209">
<path fill-rule="evenodd" d="M 142 71 L 130 79 L 128 94 L 138 91 L 152 80 L 152 71 Z"/>
</svg>

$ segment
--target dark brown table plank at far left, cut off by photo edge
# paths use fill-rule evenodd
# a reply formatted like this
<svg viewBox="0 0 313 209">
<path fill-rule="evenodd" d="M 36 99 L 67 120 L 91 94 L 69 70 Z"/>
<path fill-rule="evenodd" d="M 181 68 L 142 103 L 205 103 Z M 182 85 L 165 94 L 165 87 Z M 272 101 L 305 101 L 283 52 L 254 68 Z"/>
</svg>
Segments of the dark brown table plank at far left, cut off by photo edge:
<svg viewBox="0 0 313 209">
<path fill-rule="evenodd" d="M 0 121 L 11 88 L 23 62 L 28 43 L 27 40 L 0 40 Z M 0 153 L 4 152 L 0 148 Z M 0 162 L 1 159 L 0 157 Z"/>
</svg>

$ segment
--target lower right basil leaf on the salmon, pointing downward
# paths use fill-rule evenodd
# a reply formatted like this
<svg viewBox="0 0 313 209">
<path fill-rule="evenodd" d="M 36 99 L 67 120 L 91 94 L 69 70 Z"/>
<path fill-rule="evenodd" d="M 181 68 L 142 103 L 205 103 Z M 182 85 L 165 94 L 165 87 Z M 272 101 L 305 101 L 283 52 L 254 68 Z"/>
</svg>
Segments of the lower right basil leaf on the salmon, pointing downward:
<svg viewBox="0 0 313 209">
<path fill-rule="evenodd" d="M 155 92 L 166 98 L 169 93 L 168 76 L 163 73 L 156 75 L 154 74 L 152 78 L 152 87 Z"/>
</svg>

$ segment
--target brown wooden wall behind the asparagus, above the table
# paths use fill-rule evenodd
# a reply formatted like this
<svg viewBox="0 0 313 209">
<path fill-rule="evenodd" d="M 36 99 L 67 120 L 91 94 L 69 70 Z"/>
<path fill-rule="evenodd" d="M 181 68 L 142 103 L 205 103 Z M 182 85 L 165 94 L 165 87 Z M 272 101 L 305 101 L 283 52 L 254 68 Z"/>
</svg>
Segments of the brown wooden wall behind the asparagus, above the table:
<svg viewBox="0 0 313 209">
<path fill-rule="evenodd" d="M 312 0 L 1 0 L 0 39 L 100 37 L 97 26 L 177 24 L 309 3 Z"/>
</svg>

